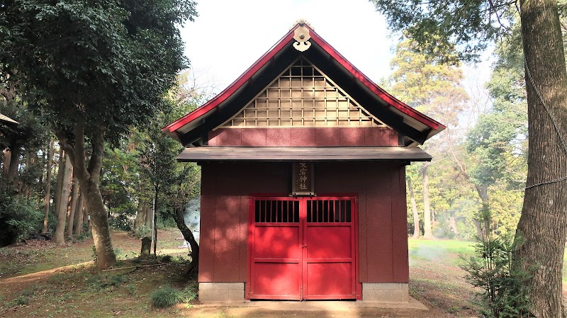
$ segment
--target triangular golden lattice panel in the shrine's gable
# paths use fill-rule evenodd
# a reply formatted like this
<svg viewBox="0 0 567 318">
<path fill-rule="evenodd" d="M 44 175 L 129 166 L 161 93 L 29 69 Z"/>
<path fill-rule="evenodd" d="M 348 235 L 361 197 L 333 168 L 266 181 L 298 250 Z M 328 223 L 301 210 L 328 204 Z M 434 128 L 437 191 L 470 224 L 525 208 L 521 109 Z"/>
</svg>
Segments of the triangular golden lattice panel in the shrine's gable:
<svg viewBox="0 0 567 318">
<path fill-rule="evenodd" d="M 382 126 L 300 57 L 220 127 Z"/>
</svg>

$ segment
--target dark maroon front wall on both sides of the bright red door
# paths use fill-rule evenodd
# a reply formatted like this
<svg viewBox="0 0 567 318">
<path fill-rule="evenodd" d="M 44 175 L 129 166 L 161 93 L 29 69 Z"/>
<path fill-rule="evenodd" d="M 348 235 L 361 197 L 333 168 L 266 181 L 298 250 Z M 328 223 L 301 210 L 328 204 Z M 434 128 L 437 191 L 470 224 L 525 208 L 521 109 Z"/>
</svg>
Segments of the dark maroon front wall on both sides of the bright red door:
<svg viewBox="0 0 567 318">
<path fill-rule="evenodd" d="M 250 194 L 291 191 L 291 163 L 203 163 L 200 282 L 247 280 Z M 317 193 L 358 195 L 361 283 L 408 283 L 405 166 L 315 164 Z"/>
</svg>

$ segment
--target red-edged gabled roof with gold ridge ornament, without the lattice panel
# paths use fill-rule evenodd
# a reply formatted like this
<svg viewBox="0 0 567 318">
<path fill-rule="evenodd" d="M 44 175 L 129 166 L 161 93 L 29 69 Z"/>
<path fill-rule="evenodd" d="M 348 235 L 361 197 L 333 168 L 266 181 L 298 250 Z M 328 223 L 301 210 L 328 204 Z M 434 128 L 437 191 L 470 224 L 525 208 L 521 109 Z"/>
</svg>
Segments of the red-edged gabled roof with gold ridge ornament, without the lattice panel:
<svg viewBox="0 0 567 318">
<path fill-rule="evenodd" d="M 298 40 L 300 35 L 296 33 L 301 33 L 301 36 L 307 33 L 305 42 Z M 302 45 L 301 50 L 296 48 Z M 224 91 L 162 130 L 184 145 L 201 144 L 203 137 L 210 130 L 235 115 L 301 55 L 330 76 L 369 113 L 402 134 L 404 144 L 423 144 L 425 140 L 444 130 L 444 125 L 381 89 L 305 23 L 298 23 L 291 28 L 276 45 Z"/>
</svg>

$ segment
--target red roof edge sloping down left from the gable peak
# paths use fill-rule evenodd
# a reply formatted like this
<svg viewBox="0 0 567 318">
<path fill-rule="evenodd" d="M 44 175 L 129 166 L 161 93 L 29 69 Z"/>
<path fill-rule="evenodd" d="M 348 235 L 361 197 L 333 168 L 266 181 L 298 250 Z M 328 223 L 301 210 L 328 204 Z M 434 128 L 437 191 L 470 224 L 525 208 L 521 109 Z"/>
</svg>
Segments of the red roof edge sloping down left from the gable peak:
<svg viewBox="0 0 567 318">
<path fill-rule="evenodd" d="M 164 132 L 174 132 L 179 128 L 183 127 L 187 123 L 191 123 L 191 121 L 196 120 L 197 118 L 205 115 L 210 110 L 213 110 L 216 106 L 220 103 L 223 103 L 232 93 L 235 93 L 242 85 L 246 83 L 259 69 L 262 69 L 264 65 L 276 55 L 288 42 L 293 39 L 293 30 L 298 28 L 299 24 L 295 25 L 286 35 L 283 35 L 273 47 L 271 47 L 268 52 L 264 53 L 262 57 L 260 57 L 251 67 L 249 67 L 242 75 L 240 75 L 235 81 L 232 82 L 224 91 L 221 91 L 217 96 L 210 99 L 210 101 L 203 104 L 203 106 L 196 108 L 195 110 L 191 111 L 191 113 L 184 115 L 183 117 L 175 120 L 173 123 L 165 126 L 162 128 Z M 311 29 L 310 29 L 311 30 Z M 168 132 L 168 134 L 169 134 Z"/>
</svg>

